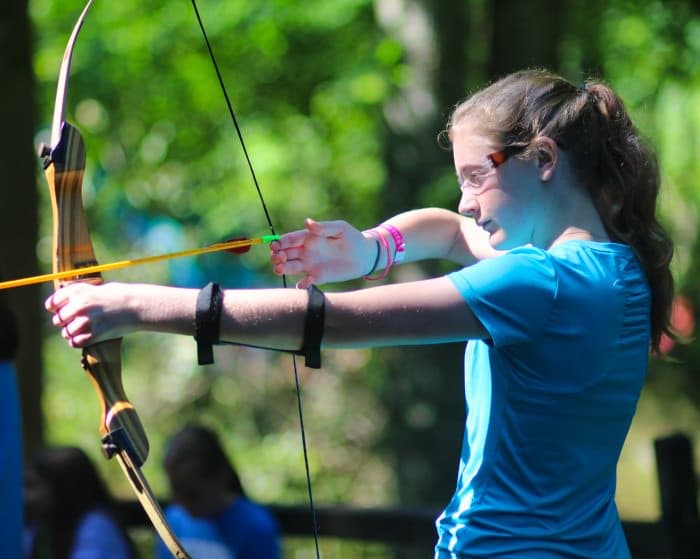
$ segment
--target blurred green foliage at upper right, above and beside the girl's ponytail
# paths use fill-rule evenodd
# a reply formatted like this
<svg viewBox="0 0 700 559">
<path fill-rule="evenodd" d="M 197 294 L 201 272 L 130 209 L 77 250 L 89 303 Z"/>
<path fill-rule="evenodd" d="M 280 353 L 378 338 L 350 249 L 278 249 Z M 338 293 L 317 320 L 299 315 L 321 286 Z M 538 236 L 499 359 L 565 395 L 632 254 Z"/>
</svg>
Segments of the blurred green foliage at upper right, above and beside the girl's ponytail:
<svg viewBox="0 0 700 559">
<path fill-rule="evenodd" d="M 611 3 L 605 16 L 605 77 L 658 150 L 661 212 L 678 244 L 682 286 L 696 258 L 700 203 L 700 13 L 690 2 L 628 1 Z"/>
</svg>

